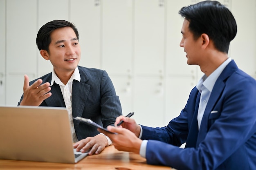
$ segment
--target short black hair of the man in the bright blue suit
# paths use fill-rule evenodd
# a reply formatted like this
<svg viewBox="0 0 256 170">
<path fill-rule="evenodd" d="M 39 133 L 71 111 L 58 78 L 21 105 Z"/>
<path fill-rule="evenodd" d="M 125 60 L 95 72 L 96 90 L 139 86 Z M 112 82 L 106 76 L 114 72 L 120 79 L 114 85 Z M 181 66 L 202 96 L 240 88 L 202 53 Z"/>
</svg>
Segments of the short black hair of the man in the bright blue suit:
<svg viewBox="0 0 256 170">
<path fill-rule="evenodd" d="M 228 53 L 237 25 L 227 7 L 218 1 L 207 0 L 183 7 L 179 14 L 189 21 L 189 30 L 195 39 L 206 33 L 218 51 Z"/>
</svg>

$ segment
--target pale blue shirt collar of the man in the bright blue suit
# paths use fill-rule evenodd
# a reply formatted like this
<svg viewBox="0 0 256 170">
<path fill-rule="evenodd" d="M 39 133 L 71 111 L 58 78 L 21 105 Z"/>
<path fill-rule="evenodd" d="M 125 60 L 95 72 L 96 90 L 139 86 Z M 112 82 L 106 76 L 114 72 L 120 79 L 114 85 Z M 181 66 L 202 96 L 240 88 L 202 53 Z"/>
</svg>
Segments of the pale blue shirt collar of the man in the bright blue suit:
<svg viewBox="0 0 256 170">
<path fill-rule="evenodd" d="M 203 75 L 202 78 L 199 80 L 198 84 L 196 85 L 196 88 L 200 91 L 202 89 L 202 85 L 204 85 L 211 92 L 216 80 L 218 79 L 224 68 L 227 66 L 227 64 L 229 64 L 229 62 L 231 62 L 230 57 L 228 57 L 225 62 L 223 62 L 215 71 L 213 71 L 213 73 L 211 73 L 209 77 Z"/>
</svg>

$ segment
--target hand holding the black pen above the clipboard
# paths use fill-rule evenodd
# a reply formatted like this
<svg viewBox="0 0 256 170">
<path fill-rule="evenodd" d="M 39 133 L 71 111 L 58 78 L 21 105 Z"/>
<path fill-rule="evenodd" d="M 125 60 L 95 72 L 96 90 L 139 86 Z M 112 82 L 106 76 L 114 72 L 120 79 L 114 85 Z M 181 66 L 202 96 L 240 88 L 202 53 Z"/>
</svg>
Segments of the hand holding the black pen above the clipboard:
<svg viewBox="0 0 256 170">
<path fill-rule="evenodd" d="M 120 127 L 122 128 L 126 128 L 130 131 L 132 131 L 133 133 L 135 133 L 135 135 L 137 137 L 139 137 L 140 134 L 140 126 L 135 122 L 135 119 L 132 119 L 130 117 L 124 117 L 124 116 L 119 116 L 116 118 L 116 122 L 115 122 L 115 126 L 117 126 L 117 124 L 123 120 L 124 123 L 122 123 L 120 125 Z"/>
</svg>

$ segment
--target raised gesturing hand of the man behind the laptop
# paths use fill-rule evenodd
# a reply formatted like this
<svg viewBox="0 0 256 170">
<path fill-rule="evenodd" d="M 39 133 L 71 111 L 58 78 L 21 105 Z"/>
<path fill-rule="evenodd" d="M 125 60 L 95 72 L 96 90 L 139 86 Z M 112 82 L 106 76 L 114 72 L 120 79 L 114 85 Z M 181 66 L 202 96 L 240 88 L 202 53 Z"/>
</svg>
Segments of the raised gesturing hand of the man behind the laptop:
<svg viewBox="0 0 256 170">
<path fill-rule="evenodd" d="M 49 82 L 41 84 L 42 82 L 42 79 L 38 79 L 34 84 L 29 86 L 29 77 L 24 75 L 23 99 L 20 105 L 39 106 L 45 99 L 52 95 L 52 93 L 48 93 L 51 90 Z"/>
</svg>

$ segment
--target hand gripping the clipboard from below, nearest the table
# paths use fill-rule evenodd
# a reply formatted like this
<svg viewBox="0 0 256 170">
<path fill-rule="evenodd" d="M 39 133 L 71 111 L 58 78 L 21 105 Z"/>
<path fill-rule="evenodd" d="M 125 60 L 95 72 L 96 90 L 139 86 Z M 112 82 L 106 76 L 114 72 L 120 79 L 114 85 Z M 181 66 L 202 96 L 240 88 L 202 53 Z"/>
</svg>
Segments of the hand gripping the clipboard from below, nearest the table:
<svg viewBox="0 0 256 170">
<path fill-rule="evenodd" d="M 116 134 L 109 133 L 105 130 L 101 130 L 100 128 L 97 130 L 108 136 L 117 150 L 139 154 L 142 140 L 136 137 L 130 130 L 113 126 L 108 126 L 108 130 Z"/>
</svg>

